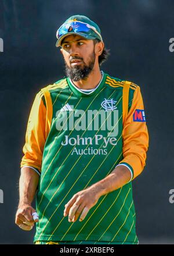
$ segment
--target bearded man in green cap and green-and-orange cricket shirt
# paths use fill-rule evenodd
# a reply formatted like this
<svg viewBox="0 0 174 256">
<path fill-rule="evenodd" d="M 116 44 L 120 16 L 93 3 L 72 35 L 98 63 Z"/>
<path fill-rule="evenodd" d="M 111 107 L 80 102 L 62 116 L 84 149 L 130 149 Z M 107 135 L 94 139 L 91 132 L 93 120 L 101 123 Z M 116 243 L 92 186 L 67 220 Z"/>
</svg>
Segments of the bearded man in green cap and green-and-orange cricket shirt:
<svg viewBox="0 0 174 256">
<path fill-rule="evenodd" d="M 36 244 L 137 244 L 132 180 L 148 148 L 140 87 L 100 70 L 107 51 L 88 17 L 66 20 L 56 46 L 67 77 L 32 105 L 16 224 L 36 222 Z"/>
</svg>

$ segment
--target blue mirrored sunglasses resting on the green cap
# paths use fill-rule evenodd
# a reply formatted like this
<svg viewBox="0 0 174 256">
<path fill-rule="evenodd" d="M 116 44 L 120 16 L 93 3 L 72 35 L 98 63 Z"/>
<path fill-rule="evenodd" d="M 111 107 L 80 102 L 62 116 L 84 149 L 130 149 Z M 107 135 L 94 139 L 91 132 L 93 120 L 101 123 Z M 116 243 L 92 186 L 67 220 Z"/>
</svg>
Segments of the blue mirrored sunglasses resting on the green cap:
<svg viewBox="0 0 174 256">
<path fill-rule="evenodd" d="M 60 37 L 62 37 L 64 34 L 67 33 L 86 33 L 90 35 L 91 37 L 96 37 L 97 34 L 98 37 L 102 40 L 102 36 L 100 33 L 96 30 L 95 27 L 90 26 L 88 23 L 84 22 L 67 22 L 61 25 L 61 27 L 57 30 L 56 37 L 59 40 Z"/>
</svg>

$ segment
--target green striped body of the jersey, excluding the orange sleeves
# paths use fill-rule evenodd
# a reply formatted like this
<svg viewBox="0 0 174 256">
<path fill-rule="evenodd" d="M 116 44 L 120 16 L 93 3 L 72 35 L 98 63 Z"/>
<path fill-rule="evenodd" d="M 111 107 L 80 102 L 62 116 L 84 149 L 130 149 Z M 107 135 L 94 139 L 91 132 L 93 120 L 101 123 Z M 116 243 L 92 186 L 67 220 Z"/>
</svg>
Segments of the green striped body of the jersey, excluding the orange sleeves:
<svg viewBox="0 0 174 256">
<path fill-rule="evenodd" d="M 100 84 L 88 93 L 69 78 L 46 87 L 52 120 L 42 157 L 35 241 L 138 243 L 131 182 L 100 197 L 84 221 L 69 223 L 63 216 L 75 193 L 104 179 L 123 159 L 124 84 L 102 72 Z M 130 86 L 128 109 L 135 89 Z"/>
</svg>

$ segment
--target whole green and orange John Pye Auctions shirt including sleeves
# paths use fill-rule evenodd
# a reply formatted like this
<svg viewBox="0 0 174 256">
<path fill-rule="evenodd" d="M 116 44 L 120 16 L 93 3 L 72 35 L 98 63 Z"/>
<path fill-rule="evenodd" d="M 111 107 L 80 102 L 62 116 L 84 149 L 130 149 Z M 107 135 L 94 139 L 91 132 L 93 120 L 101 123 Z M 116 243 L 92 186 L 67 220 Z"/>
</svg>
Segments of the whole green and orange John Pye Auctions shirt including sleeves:
<svg viewBox="0 0 174 256">
<path fill-rule="evenodd" d="M 138 243 L 132 180 L 143 170 L 148 131 L 140 87 L 102 72 L 95 90 L 82 91 L 69 78 L 37 94 L 27 125 L 21 168 L 41 176 L 35 241 Z M 64 205 L 117 165 L 131 180 L 99 198 L 84 221 L 69 223 Z"/>
</svg>

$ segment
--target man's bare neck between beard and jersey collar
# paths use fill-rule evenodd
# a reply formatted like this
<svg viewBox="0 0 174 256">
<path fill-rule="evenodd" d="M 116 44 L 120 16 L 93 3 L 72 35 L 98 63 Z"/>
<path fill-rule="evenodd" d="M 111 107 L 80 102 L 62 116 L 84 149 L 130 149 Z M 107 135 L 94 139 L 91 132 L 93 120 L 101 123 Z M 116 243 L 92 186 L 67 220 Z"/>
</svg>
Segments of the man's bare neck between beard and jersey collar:
<svg viewBox="0 0 174 256">
<path fill-rule="evenodd" d="M 97 66 L 93 68 L 92 72 L 90 72 L 89 76 L 85 80 L 81 79 L 79 81 L 73 81 L 73 83 L 80 89 L 89 90 L 95 88 L 100 83 L 101 79 L 102 74 L 99 66 Z"/>
</svg>

